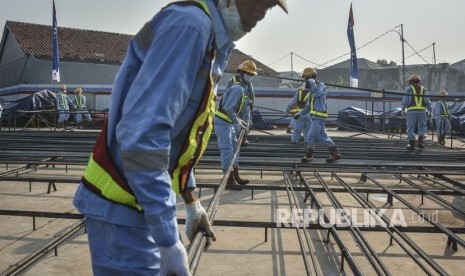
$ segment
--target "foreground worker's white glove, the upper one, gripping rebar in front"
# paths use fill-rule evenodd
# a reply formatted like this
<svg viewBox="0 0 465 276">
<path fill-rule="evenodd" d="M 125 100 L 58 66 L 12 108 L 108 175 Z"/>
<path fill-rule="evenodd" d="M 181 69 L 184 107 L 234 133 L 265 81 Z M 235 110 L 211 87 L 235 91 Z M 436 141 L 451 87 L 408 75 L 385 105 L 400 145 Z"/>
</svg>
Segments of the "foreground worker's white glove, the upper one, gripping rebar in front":
<svg viewBox="0 0 465 276">
<path fill-rule="evenodd" d="M 184 208 L 186 210 L 186 236 L 189 238 L 189 241 L 192 242 L 198 231 L 204 232 L 207 236 L 205 250 L 208 250 L 211 241 L 216 241 L 216 236 L 210 225 L 207 212 L 198 200 L 192 203 L 186 203 Z"/>
</svg>

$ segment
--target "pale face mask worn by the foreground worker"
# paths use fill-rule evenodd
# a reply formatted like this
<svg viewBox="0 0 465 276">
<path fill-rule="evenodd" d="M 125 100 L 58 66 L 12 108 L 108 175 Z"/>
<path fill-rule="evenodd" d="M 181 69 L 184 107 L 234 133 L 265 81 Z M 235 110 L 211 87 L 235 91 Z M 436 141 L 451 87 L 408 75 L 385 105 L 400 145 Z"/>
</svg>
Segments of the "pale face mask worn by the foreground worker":
<svg viewBox="0 0 465 276">
<path fill-rule="evenodd" d="M 241 16 L 237 10 L 236 1 L 232 0 L 229 7 L 227 7 L 227 0 L 218 1 L 218 11 L 220 12 L 223 24 L 232 41 L 241 39 L 246 32 L 242 30 Z"/>
</svg>

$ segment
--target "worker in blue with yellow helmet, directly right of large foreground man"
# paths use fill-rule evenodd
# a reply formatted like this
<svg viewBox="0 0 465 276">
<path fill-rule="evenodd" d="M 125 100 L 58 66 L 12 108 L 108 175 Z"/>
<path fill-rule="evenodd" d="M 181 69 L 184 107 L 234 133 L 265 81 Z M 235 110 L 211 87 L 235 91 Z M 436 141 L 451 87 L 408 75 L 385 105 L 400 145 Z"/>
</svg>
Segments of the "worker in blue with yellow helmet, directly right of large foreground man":
<svg viewBox="0 0 465 276">
<path fill-rule="evenodd" d="M 229 168 L 234 152 L 237 149 L 236 129 L 248 131 L 249 125 L 239 117 L 245 106 L 247 90 L 253 78 L 257 75 L 257 66 L 253 61 L 244 61 L 238 69 L 235 82 L 232 82 L 223 93 L 218 105 L 215 118 L 215 133 L 221 154 L 221 168 L 223 173 Z M 241 190 L 240 185 L 246 185 L 249 180 L 239 176 L 239 155 L 233 164 L 233 171 L 228 176 L 226 188 Z"/>
</svg>

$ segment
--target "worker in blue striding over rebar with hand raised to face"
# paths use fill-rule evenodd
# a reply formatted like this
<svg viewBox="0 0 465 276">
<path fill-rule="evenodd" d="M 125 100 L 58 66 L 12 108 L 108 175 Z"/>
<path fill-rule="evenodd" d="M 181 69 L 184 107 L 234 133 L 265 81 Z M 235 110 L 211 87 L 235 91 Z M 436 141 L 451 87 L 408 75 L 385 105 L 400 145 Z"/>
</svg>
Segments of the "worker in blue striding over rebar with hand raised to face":
<svg viewBox="0 0 465 276">
<path fill-rule="evenodd" d="M 313 161 L 313 151 L 317 141 L 322 142 L 328 147 L 330 156 L 326 159 L 327 163 L 334 162 L 342 158 L 336 144 L 326 134 L 325 122 L 328 118 L 326 105 L 326 86 L 323 82 L 317 80 L 315 69 L 308 67 L 304 69 L 302 78 L 305 80 L 305 88 L 310 90 L 309 101 L 305 107 L 298 112 L 294 118 L 298 120 L 301 116 L 310 112 L 312 123 L 307 133 L 307 153 L 302 158 L 302 163 Z"/>
</svg>

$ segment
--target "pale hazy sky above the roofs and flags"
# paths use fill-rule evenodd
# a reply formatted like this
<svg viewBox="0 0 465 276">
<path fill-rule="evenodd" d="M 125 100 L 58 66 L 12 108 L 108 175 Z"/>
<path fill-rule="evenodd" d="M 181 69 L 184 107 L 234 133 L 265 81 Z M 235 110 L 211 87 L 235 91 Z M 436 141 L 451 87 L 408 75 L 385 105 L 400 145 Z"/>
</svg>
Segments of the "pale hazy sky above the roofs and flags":
<svg viewBox="0 0 465 276">
<path fill-rule="evenodd" d="M 59 26 L 125 34 L 135 34 L 170 2 L 55 0 Z M 432 64 L 433 54 L 436 63 L 465 59 L 464 0 L 288 0 L 289 14 L 272 9 L 237 48 L 277 71 L 342 62 L 349 58 L 346 28 L 350 3 L 356 46 L 363 46 L 357 50 L 359 58 L 401 64 L 399 32 L 403 24 L 408 42 L 406 64 Z M 1 0 L 1 32 L 6 20 L 51 25 L 52 0 Z M 421 51 L 420 56 L 415 51 Z"/>
</svg>

